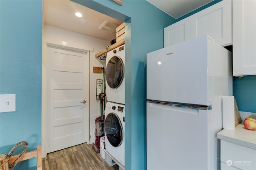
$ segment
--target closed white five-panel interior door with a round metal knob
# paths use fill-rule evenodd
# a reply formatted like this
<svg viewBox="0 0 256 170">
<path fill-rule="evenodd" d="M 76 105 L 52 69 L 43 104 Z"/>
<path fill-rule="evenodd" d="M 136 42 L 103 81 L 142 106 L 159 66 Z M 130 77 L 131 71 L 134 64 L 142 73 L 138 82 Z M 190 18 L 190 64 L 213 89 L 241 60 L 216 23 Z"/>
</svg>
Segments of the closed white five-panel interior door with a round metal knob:
<svg viewBox="0 0 256 170">
<path fill-rule="evenodd" d="M 87 142 L 87 58 L 48 47 L 47 153 Z"/>
</svg>

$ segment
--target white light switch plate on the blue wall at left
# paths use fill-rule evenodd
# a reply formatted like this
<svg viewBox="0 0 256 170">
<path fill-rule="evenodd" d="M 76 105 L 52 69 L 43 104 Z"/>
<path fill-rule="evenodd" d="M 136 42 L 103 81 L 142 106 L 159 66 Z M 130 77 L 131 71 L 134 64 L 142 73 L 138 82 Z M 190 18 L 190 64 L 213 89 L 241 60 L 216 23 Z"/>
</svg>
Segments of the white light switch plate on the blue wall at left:
<svg viewBox="0 0 256 170">
<path fill-rule="evenodd" d="M 16 94 L 0 94 L 0 113 L 16 111 Z"/>
</svg>

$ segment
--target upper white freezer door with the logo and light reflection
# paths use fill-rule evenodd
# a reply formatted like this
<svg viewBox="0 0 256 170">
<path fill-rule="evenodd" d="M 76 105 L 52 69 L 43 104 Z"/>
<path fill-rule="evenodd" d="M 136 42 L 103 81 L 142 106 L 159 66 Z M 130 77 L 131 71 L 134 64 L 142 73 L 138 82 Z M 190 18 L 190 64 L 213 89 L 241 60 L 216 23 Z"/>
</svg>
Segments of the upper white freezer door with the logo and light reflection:
<svg viewBox="0 0 256 170">
<path fill-rule="evenodd" d="M 211 105 L 211 39 L 207 35 L 147 54 L 147 99 Z"/>
</svg>

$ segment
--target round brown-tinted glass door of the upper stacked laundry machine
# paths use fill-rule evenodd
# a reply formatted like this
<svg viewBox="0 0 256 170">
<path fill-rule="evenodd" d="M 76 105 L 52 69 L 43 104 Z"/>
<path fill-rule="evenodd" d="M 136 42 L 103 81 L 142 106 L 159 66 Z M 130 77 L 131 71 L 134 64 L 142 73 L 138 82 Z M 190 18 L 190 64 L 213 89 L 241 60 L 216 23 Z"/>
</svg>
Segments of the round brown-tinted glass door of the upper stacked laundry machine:
<svg viewBox="0 0 256 170">
<path fill-rule="evenodd" d="M 110 88 L 118 88 L 124 78 L 124 63 L 118 56 L 112 57 L 106 66 L 106 81 Z"/>
</svg>

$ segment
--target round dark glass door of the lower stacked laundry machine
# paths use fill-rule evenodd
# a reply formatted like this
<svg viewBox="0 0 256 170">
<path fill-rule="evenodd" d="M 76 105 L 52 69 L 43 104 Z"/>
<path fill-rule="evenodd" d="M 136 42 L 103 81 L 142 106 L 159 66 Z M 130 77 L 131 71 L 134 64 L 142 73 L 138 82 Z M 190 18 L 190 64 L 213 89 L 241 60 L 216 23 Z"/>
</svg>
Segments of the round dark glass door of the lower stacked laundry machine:
<svg viewBox="0 0 256 170">
<path fill-rule="evenodd" d="M 105 135 L 113 147 L 119 147 L 123 141 L 122 123 L 115 113 L 109 113 L 105 118 Z"/>
</svg>

